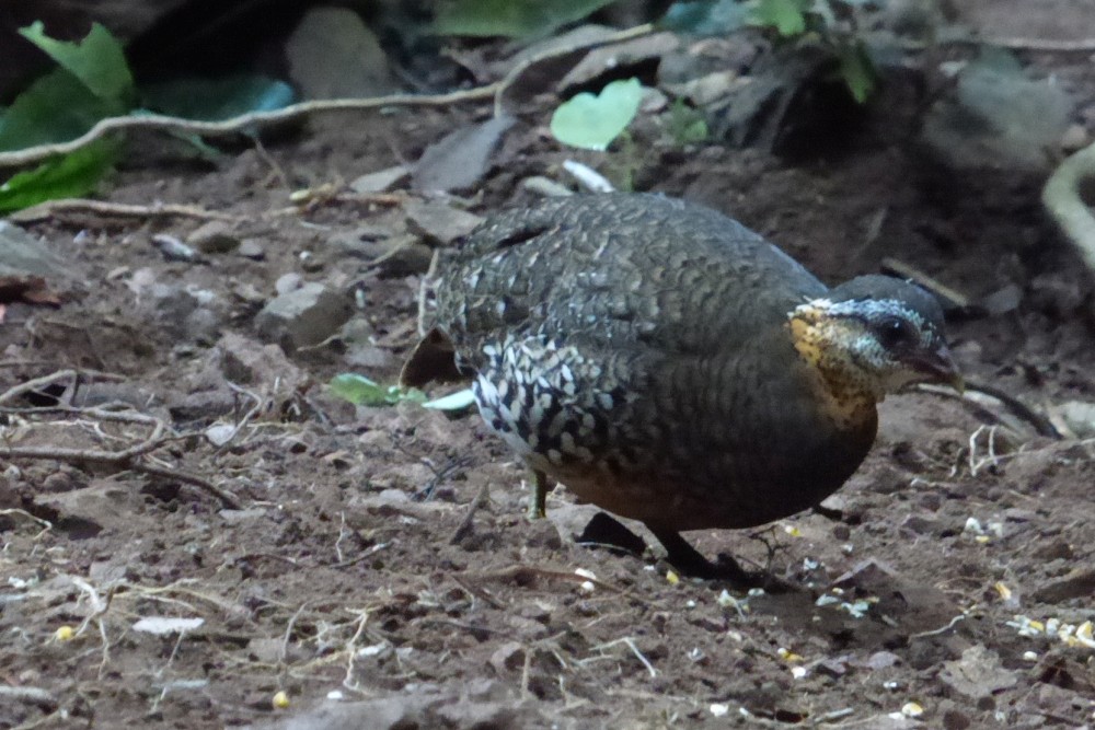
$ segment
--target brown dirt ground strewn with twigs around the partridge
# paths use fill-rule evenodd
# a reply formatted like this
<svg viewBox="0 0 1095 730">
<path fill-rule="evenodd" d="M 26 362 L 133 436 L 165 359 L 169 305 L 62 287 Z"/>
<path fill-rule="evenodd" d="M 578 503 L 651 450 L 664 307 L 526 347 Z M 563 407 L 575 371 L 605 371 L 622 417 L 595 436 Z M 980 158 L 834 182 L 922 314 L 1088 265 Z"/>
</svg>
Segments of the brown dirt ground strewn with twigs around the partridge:
<svg viewBox="0 0 1095 730">
<path fill-rule="evenodd" d="M 562 490 L 551 520 L 527 523 L 526 475 L 477 417 L 354 408 L 325 393 L 346 370 L 391 382 L 411 344 L 417 277 L 381 278 L 331 244 L 362 225 L 401 230 L 402 205 L 272 211 L 292 189 L 414 160 L 485 112 L 326 117 L 268 157 L 135 164 L 106 196 L 240 216 L 237 233 L 260 240 L 264 260 L 165 262 L 151 236 L 185 237 L 198 225 L 186 219 L 69 213 L 32 227 L 77 283 L 59 309 L 9 306 L 0 391 L 67 367 L 119 375 L 85 385 L 83 403 L 120 399 L 169 419 L 188 436 L 146 463 L 208 479 L 241 509 L 170 476 L 4 464 L 0 687 L 44 693 L 0 697 L 0 728 L 1091 723 L 1095 645 L 1015 625 L 1095 618 L 1091 442 L 1037 437 L 994 403 L 892 397 L 877 447 L 830 502 L 840 521 L 802 514 L 757 535 L 690 535 L 707 555 L 802 587 L 724 595 L 667 580 L 652 557 L 577 545 L 596 510 Z M 511 130 L 473 210 L 527 199 L 517 182 L 564 159 L 545 119 L 532 109 Z M 1036 408 L 1095 396 L 1082 277 L 1030 181 L 948 177 L 897 144 L 794 166 L 714 146 L 650 149 L 641 187 L 731 212 L 827 280 L 897 256 L 975 298 L 1017 283 L 1017 311 L 954 324 L 970 380 Z M 881 210 L 880 234 L 864 243 Z M 146 269 L 211 292 L 221 332 L 249 341 L 187 339 L 138 286 Z M 347 366 L 337 341 L 288 358 L 250 344 L 255 312 L 290 271 L 357 292 L 374 367 Z M 232 370 L 226 352 L 240 349 L 257 362 Z M 230 370 L 251 382 L 229 374 L 241 389 L 230 390 Z M 4 417 L 19 445 L 117 449 L 145 432 Z M 220 449 L 200 436 L 218 418 L 242 424 Z M 157 636 L 135 628 L 149 616 L 204 621 Z M 287 708 L 274 708 L 278 692 Z"/>
</svg>

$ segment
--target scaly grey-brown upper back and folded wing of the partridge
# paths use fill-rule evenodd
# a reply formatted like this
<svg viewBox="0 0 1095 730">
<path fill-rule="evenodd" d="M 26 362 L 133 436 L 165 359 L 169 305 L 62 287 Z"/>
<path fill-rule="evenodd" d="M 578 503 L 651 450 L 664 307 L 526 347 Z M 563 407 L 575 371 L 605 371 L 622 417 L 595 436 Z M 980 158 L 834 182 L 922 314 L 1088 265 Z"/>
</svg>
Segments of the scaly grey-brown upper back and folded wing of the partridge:
<svg viewBox="0 0 1095 730">
<path fill-rule="evenodd" d="M 435 322 L 461 351 L 528 331 L 712 352 L 782 326 L 791 309 L 827 291 L 740 223 L 657 195 L 507 211 L 441 264 Z"/>
</svg>

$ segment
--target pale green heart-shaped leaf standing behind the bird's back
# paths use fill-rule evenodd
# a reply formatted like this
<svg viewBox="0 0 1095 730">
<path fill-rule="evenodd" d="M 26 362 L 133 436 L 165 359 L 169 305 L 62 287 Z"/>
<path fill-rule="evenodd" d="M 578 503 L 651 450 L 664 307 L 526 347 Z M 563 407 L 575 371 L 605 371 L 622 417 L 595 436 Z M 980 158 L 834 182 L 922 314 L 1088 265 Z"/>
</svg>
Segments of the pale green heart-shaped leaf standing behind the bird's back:
<svg viewBox="0 0 1095 730">
<path fill-rule="evenodd" d="M 601 93 L 576 94 L 551 118 L 555 139 L 584 150 L 606 150 L 638 113 L 643 86 L 638 79 L 613 81 Z"/>
</svg>

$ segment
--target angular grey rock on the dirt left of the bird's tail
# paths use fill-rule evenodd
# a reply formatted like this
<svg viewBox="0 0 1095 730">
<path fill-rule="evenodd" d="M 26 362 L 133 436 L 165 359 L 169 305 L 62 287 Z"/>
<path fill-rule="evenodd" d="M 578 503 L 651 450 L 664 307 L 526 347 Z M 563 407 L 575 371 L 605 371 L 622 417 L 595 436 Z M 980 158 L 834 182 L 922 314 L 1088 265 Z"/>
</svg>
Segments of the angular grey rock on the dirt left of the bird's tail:
<svg viewBox="0 0 1095 730">
<path fill-rule="evenodd" d="M 267 302 L 255 316 L 255 328 L 265 341 L 292 352 L 319 345 L 335 334 L 350 314 L 349 298 L 322 283 L 309 282 Z"/>
</svg>

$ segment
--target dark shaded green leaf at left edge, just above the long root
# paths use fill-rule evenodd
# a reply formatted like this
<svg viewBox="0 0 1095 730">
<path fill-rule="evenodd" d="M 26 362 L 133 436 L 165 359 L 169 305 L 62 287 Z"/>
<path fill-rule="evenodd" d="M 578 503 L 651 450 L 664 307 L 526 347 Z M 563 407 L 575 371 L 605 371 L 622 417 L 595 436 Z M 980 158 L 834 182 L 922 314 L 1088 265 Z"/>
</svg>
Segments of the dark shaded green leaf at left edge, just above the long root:
<svg viewBox="0 0 1095 730">
<path fill-rule="evenodd" d="M 64 69 L 47 73 L 20 94 L 0 126 L 0 150 L 79 137 L 100 119 L 125 114 L 117 102 L 100 99 Z"/>
</svg>

